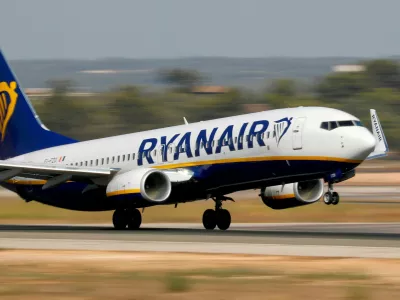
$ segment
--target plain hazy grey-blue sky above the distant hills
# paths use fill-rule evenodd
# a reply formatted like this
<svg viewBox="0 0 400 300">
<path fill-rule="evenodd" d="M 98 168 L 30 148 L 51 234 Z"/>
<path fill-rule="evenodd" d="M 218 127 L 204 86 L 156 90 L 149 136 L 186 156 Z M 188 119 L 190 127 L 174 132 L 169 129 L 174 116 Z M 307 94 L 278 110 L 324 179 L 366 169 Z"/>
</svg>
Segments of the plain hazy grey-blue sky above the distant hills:
<svg viewBox="0 0 400 300">
<path fill-rule="evenodd" d="M 399 0 L 0 0 L 9 59 L 400 54 Z"/>
</svg>

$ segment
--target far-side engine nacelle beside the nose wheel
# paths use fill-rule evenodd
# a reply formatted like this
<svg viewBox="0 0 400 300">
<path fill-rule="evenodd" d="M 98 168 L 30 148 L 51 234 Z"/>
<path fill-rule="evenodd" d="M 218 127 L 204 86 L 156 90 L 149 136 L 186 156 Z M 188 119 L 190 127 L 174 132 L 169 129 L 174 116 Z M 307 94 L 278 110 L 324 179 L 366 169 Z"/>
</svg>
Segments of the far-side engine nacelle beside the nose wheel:
<svg viewBox="0 0 400 300">
<path fill-rule="evenodd" d="M 317 202 L 323 193 L 324 181 L 315 179 L 266 187 L 261 190 L 261 199 L 272 209 L 285 209 Z"/>
</svg>

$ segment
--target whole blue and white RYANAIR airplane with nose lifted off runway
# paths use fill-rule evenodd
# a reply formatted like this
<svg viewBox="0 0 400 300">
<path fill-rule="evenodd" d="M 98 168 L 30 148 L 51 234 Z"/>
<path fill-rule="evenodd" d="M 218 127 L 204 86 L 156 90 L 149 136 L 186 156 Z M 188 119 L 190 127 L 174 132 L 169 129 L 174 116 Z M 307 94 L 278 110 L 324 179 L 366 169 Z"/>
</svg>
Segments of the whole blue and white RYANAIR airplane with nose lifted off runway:
<svg viewBox="0 0 400 300">
<path fill-rule="evenodd" d="M 0 50 L 0 183 L 26 202 L 113 210 L 116 229 L 138 229 L 139 208 L 213 200 L 204 228 L 227 230 L 233 192 L 260 190 L 272 209 L 339 203 L 333 185 L 389 148 L 375 110 L 372 133 L 325 107 L 276 109 L 77 141 L 49 130 Z M 328 191 L 324 194 L 325 183 Z"/>
</svg>

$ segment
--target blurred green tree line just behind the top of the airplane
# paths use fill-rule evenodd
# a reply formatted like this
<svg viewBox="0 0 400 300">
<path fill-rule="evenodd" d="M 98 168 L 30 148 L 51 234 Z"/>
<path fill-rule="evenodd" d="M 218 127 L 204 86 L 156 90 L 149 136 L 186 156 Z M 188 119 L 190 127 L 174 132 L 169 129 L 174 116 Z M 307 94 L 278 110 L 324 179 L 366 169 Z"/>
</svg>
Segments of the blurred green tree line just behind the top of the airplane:
<svg viewBox="0 0 400 300">
<path fill-rule="evenodd" d="M 161 70 L 158 79 L 166 88 L 118 86 L 92 96 L 70 96 L 69 80 L 51 80 L 50 97 L 33 105 L 51 130 L 88 140 L 253 111 L 296 106 L 342 109 L 370 126 L 369 109 L 382 122 L 391 150 L 400 148 L 400 66 L 392 60 L 360 62 L 357 72 L 332 72 L 313 82 L 278 78 L 265 88 L 251 91 L 230 87 L 226 93 L 198 95 L 193 87 L 206 76 L 194 70 Z"/>
</svg>

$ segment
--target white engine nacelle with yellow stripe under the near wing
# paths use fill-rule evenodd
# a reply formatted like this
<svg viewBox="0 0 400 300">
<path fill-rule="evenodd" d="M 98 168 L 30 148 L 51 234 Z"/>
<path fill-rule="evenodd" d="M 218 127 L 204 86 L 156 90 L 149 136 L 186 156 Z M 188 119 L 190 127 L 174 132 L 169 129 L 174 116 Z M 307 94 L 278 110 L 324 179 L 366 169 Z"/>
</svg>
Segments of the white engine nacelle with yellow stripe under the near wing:
<svg viewBox="0 0 400 300">
<path fill-rule="evenodd" d="M 139 195 L 151 202 L 164 202 L 171 194 L 171 181 L 162 171 L 143 168 L 117 174 L 107 185 L 107 197 Z"/>
</svg>

